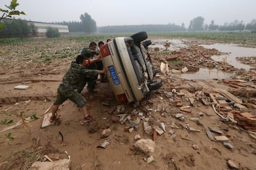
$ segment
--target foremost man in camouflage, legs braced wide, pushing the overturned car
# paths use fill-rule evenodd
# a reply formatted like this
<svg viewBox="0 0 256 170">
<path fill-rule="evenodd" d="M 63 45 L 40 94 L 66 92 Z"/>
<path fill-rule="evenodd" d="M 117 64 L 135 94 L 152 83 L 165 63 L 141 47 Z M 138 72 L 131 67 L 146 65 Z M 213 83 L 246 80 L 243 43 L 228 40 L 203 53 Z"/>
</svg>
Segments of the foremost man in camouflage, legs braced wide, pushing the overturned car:
<svg viewBox="0 0 256 170">
<path fill-rule="evenodd" d="M 89 70 L 85 68 L 85 66 L 90 66 L 92 63 L 99 60 L 100 57 L 87 60 L 84 56 L 77 55 L 76 60 L 71 62 L 69 70 L 66 75 L 64 75 L 62 83 L 59 85 L 57 99 L 53 103 L 52 115 L 49 118 L 49 121 L 54 121 L 56 119 L 56 112 L 59 106 L 67 99 L 71 100 L 81 108 L 83 111 L 84 122 L 95 120 L 93 116 L 90 116 L 87 113 L 87 101 L 85 97 L 76 90 L 79 87 L 80 81 L 84 79 L 85 76 L 95 76 L 101 73 L 106 73 L 107 68 L 103 68 L 103 70 Z"/>
</svg>

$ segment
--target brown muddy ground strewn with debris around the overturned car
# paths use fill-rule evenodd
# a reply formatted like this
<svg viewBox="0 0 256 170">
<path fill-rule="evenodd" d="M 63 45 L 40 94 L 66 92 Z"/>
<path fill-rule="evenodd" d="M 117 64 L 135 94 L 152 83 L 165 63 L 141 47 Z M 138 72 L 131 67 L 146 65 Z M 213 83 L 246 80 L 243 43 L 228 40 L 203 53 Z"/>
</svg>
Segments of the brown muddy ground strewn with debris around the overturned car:
<svg viewBox="0 0 256 170">
<path fill-rule="evenodd" d="M 153 44 L 158 43 L 151 39 Z M 108 82 L 98 81 L 94 93 L 86 88 L 82 91 L 95 122 L 80 124 L 82 113 L 68 100 L 59 108 L 59 121 L 45 128 L 41 128 L 45 112 L 53 104 L 62 76 L 75 57 L 72 54 L 79 54 L 81 43 L 38 39 L 15 46 L 1 45 L 0 169 L 28 169 L 35 161 L 49 161 L 44 155 L 52 161 L 69 155 L 70 169 L 256 169 L 254 71 L 212 61 L 211 55 L 221 52 L 198 46 L 206 42 L 184 43 L 187 47 L 176 51 L 150 49 L 155 68 L 167 61 L 169 73 L 156 75 L 162 79 L 163 87 L 151 91 L 139 104 L 121 105 Z M 44 56 L 60 51 L 71 55 L 40 62 Z M 236 71 L 239 80 L 181 79 L 173 69 L 181 71 L 184 67 L 191 71 L 200 67 Z M 30 88 L 14 89 L 20 84 Z M 219 105 L 219 100 L 215 103 L 210 95 L 215 94 L 213 98 L 217 99 L 216 89 L 235 96 L 229 98 L 229 108 L 213 109 L 212 105 Z M 234 107 L 236 97 L 244 107 Z M 244 112 L 253 115 L 250 126 L 244 124 L 247 118 L 241 121 L 240 113 Z M 123 124 L 119 121 L 120 114 L 130 115 L 133 123 L 139 121 L 133 131 L 129 132 L 133 126 L 128 120 Z M 20 120 L 21 125 L 3 131 Z M 164 124 L 166 132 L 160 135 L 152 129 L 148 131 L 145 123 L 154 128 Z M 211 140 L 207 136 L 210 127 L 222 134 L 210 131 Z M 105 138 L 101 135 L 104 129 L 111 129 Z M 134 147 L 136 134 L 140 139 L 154 140 L 153 152 Z M 217 142 L 216 136 L 226 136 L 231 147 Z M 105 139 L 111 139 L 111 143 L 97 148 Z M 153 161 L 147 163 L 150 156 Z"/>
</svg>

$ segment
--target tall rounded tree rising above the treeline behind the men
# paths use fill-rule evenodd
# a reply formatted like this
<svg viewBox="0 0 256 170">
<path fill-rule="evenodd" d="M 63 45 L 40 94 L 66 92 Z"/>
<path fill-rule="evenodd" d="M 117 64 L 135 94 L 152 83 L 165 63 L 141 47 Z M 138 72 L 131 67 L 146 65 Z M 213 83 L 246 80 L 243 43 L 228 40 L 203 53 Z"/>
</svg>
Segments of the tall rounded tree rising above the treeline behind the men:
<svg viewBox="0 0 256 170">
<path fill-rule="evenodd" d="M 89 14 L 87 14 L 87 12 L 85 12 L 83 15 L 80 15 L 80 20 L 82 21 L 83 31 L 87 33 L 96 31 L 96 22 Z"/>
</svg>

